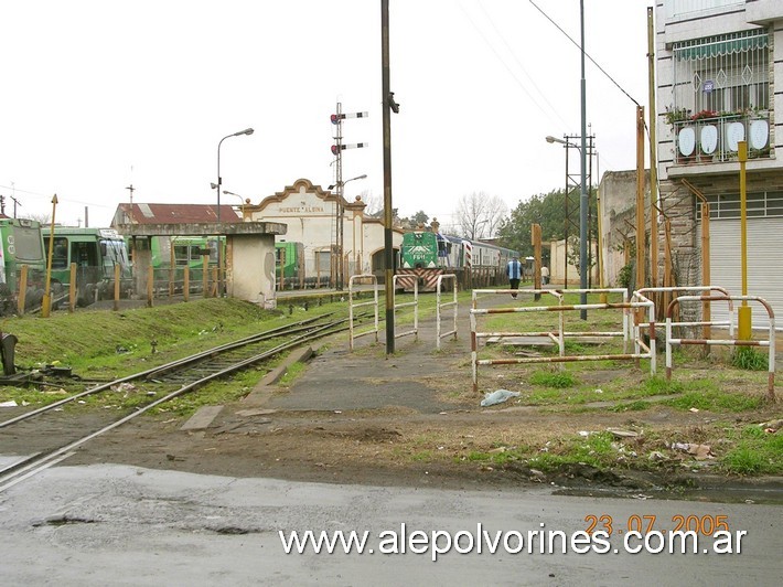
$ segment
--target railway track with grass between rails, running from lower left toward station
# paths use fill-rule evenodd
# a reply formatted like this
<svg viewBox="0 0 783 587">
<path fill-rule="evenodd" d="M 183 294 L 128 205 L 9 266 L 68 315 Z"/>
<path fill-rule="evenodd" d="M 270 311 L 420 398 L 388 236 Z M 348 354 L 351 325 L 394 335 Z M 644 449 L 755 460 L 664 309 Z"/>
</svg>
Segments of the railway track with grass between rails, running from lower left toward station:
<svg viewBox="0 0 783 587">
<path fill-rule="evenodd" d="M 0 421 L 0 440 L 7 434 L 36 439 L 35 441 L 31 440 L 29 445 L 30 456 L 22 457 L 0 468 L 0 492 L 68 458 L 85 442 L 126 424 L 161 404 L 193 392 L 214 380 L 255 367 L 297 346 L 347 329 L 345 319 L 324 320 L 324 318 L 329 318 L 329 314 L 287 324 L 215 346 L 163 365 L 93 386 L 53 404 Z M 41 429 L 53 426 L 51 421 L 46 421 L 47 417 L 52 417 L 55 420 L 57 418 L 62 419 L 64 405 L 78 403 L 86 396 L 121 389 L 122 385 L 133 385 L 146 397 L 150 398 L 149 402 L 137 405 L 121 417 L 117 417 L 116 413 L 114 416 L 99 414 L 98 417 L 92 417 L 89 431 L 81 428 L 72 430 L 67 438 L 64 438 L 63 435 L 53 435 L 50 438 L 46 434 L 40 434 Z M 95 416 L 95 412 L 90 410 L 90 415 Z M 56 426 L 54 427 L 56 428 Z"/>
</svg>

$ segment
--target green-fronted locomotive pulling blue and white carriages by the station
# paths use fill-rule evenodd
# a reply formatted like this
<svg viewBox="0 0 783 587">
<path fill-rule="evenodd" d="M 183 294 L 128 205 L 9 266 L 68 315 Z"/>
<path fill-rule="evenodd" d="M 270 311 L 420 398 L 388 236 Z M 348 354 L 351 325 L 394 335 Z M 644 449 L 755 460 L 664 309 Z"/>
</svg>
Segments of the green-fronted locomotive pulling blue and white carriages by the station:
<svg viewBox="0 0 783 587">
<path fill-rule="evenodd" d="M 457 276 L 463 288 L 500 286 L 506 278 L 506 264 L 519 253 L 481 241 L 412 231 L 403 235 L 396 275 L 397 288 L 412 291 L 435 291 L 438 277 Z"/>
</svg>

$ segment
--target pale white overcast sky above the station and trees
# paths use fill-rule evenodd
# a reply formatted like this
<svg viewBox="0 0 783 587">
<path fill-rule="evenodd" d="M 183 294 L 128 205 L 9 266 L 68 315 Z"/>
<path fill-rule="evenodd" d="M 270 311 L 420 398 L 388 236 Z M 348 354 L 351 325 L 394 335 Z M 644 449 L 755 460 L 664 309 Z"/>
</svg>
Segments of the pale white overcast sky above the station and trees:
<svg viewBox="0 0 783 587">
<path fill-rule="evenodd" d="M 510 207 L 565 186 L 580 135 L 579 0 L 389 0 L 393 203 L 442 224 L 473 192 Z M 584 0 L 588 135 L 598 170 L 635 167 L 647 105 L 647 6 Z M 546 17 L 543 14 L 546 13 Z M 6 213 L 107 226 L 120 202 L 258 203 L 334 182 L 330 115 L 348 119 L 343 180 L 383 200 L 380 0 L 3 2 Z M 548 18 L 556 24 L 553 24 Z M 620 86 L 620 87 L 618 87 Z M 628 95 L 626 95 L 628 94 Z M 633 98 L 633 99 L 632 99 Z M 578 152 L 570 171 L 578 173 Z M 597 178 L 598 179 L 598 175 Z M 239 199 L 223 195 L 222 202 Z M 21 207 L 19 207 L 21 206 Z"/>
</svg>

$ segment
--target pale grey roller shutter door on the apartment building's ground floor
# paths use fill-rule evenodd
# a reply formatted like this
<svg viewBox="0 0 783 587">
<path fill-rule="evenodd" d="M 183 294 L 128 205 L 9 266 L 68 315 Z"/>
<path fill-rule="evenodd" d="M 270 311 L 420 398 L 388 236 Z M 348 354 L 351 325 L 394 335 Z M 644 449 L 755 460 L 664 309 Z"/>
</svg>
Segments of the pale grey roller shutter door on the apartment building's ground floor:
<svg viewBox="0 0 783 587">
<path fill-rule="evenodd" d="M 783 218 L 748 218 L 748 295 L 764 298 L 775 313 L 775 325 L 783 327 Z M 698 228 L 698 238 L 701 230 Z M 732 296 L 742 294 L 740 220 L 712 218 L 710 236 L 710 281 Z M 738 302 L 740 303 L 740 302 Z M 753 328 L 769 328 L 766 311 L 757 302 L 752 308 Z M 712 320 L 728 320 L 728 305 L 711 305 Z M 734 316 L 734 323 L 737 316 Z"/>
</svg>

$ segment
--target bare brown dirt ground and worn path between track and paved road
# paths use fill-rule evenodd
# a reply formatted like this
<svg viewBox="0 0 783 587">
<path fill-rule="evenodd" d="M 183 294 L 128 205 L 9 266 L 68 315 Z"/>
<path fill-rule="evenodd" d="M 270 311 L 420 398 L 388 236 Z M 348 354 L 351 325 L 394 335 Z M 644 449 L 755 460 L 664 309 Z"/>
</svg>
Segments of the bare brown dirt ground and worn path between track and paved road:
<svg viewBox="0 0 783 587">
<path fill-rule="evenodd" d="M 185 419 L 165 414 L 144 416 L 92 440 L 66 463 L 118 462 L 217 476 L 451 489 L 554 483 L 650 493 L 741 481 L 714 476 L 714 459 L 695 461 L 666 450 L 673 441 L 719 445 L 711 425 L 725 420 L 723 415 L 664 406 L 615 413 L 601 409 L 609 406 L 600 402 L 592 406 L 597 410 L 575 413 L 526 406 L 524 397 L 481 407 L 483 395 L 465 393 L 470 388 L 465 338 L 444 341 L 443 350 L 433 352 L 432 339 L 422 331 L 419 342 L 398 342 L 397 353 L 386 357 L 383 344 L 372 341 L 350 353 L 342 337 L 322 348 L 292 384 L 258 385 L 240 402 L 224 405 L 204 428 L 183 429 Z M 589 376 L 597 385 L 616 377 L 633 385 L 646 376 L 644 369 L 630 365 Z M 491 383 L 503 387 L 502 378 Z M 769 412 L 732 419 L 750 424 L 765 417 Z M 667 455 L 667 462 L 654 474 L 634 471 L 623 457 L 611 471 L 577 465 L 544 474 L 519 461 L 492 466 L 475 459 L 476 453 L 521 446 L 545 451 L 564 437 L 608 428 L 639 434 L 618 437 L 623 450 L 644 455 L 657 450 Z M 783 489 L 779 481 L 773 484 Z"/>
</svg>

